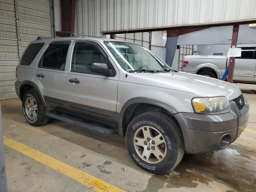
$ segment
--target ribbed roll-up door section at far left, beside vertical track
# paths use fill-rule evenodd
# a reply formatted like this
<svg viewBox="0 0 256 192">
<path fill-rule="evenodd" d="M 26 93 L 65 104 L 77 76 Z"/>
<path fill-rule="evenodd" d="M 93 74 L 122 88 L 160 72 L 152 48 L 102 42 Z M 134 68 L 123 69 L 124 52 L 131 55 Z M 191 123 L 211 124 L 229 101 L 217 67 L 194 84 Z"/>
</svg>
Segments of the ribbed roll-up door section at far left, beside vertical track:
<svg viewBox="0 0 256 192">
<path fill-rule="evenodd" d="M 0 99 L 17 97 L 14 81 L 18 63 L 14 0 L 0 0 Z"/>
</svg>

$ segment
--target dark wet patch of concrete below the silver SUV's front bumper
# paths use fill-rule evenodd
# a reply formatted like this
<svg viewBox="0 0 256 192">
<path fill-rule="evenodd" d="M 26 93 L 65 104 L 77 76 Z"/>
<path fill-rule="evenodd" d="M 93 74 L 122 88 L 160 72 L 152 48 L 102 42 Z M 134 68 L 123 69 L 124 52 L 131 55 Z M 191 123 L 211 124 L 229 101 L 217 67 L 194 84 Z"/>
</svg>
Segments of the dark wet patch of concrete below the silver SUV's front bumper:
<svg viewBox="0 0 256 192">
<path fill-rule="evenodd" d="M 238 144 L 209 154 L 186 154 L 173 171 L 164 176 L 152 176 L 144 192 L 157 192 L 161 188 L 197 188 L 214 180 L 231 191 L 253 192 L 256 191 L 255 155 L 255 151 Z"/>
</svg>

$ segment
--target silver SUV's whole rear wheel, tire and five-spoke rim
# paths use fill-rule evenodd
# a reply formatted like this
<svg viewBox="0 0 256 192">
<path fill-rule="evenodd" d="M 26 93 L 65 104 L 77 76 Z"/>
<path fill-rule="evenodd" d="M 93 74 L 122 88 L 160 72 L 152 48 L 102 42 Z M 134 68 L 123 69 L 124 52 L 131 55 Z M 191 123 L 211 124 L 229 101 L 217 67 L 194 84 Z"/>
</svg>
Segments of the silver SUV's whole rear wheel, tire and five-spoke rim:
<svg viewBox="0 0 256 192">
<path fill-rule="evenodd" d="M 49 122 L 44 106 L 36 90 L 28 90 L 22 99 L 22 110 L 27 122 L 32 126 L 41 126 Z"/>
</svg>

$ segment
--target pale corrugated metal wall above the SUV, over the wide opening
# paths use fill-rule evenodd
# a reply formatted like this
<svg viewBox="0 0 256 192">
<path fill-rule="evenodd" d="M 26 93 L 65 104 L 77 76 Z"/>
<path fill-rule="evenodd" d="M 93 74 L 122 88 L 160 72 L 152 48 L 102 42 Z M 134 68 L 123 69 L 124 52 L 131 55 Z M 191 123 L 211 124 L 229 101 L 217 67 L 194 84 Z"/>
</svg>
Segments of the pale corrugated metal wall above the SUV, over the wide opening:
<svg viewBox="0 0 256 192">
<path fill-rule="evenodd" d="M 152 28 L 256 18 L 255 0 L 78 0 L 76 32 Z"/>
</svg>

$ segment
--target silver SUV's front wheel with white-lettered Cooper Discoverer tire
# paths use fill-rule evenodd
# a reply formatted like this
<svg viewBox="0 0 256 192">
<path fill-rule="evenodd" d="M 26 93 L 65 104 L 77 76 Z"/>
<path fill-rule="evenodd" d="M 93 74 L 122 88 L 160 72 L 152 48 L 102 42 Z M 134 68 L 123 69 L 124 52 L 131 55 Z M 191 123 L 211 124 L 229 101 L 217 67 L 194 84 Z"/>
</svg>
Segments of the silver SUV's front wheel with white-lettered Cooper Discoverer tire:
<svg viewBox="0 0 256 192">
<path fill-rule="evenodd" d="M 128 125 L 126 146 L 132 160 L 143 170 L 154 174 L 172 170 L 184 155 L 178 124 L 160 112 L 136 116 Z"/>
</svg>

